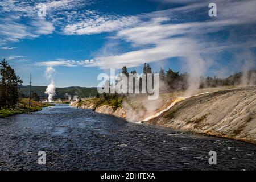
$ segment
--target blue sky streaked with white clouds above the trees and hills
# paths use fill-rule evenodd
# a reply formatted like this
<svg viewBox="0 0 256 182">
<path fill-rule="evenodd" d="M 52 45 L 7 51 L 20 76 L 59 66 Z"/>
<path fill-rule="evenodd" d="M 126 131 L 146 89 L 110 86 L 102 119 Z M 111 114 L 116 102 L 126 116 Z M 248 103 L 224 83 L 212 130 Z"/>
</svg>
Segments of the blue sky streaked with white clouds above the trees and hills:
<svg viewBox="0 0 256 182">
<path fill-rule="evenodd" d="M 99 73 L 126 65 L 226 77 L 255 69 L 256 1 L 0 2 L 0 56 L 27 85 L 97 86 Z M 46 5 L 46 16 L 38 10 Z"/>
</svg>

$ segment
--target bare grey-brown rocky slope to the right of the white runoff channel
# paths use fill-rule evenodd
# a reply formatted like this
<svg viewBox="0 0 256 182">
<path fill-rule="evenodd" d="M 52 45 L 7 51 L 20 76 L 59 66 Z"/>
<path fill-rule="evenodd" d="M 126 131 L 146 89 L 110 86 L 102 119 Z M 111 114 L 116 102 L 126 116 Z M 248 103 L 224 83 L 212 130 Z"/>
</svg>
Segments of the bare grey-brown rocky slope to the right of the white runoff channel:
<svg viewBox="0 0 256 182">
<path fill-rule="evenodd" d="M 256 143 L 256 87 L 187 98 L 144 123 Z"/>
</svg>

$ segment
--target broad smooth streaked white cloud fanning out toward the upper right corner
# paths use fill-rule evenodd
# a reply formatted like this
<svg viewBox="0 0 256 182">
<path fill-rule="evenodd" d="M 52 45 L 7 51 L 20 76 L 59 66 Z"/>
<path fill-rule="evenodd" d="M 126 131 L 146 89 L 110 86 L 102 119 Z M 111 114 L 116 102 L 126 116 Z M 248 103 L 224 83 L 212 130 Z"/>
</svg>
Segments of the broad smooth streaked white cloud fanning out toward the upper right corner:
<svg viewBox="0 0 256 182">
<path fill-rule="evenodd" d="M 201 54 L 220 52 L 224 49 L 255 47 L 255 42 L 237 43 L 236 40 L 222 42 L 220 39 L 207 39 L 207 34 L 227 30 L 230 26 L 255 24 L 256 1 L 223 1 L 218 2 L 218 16 L 207 21 L 185 23 L 170 23 L 166 17 L 196 11 L 202 4 L 187 5 L 171 10 L 156 11 L 139 15 L 150 17 L 150 20 L 139 23 L 139 26 L 119 30 L 115 38 L 130 42 L 137 51 L 131 51 L 112 56 L 95 57 L 94 65 L 106 68 L 137 67 L 144 62 L 155 62 L 171 57 L 183 57 L 189 60 L 193 57 L 195 64 L 203 60 Z M 193 9 L 191 9 L 193 7 Z M 232 14 L 233 12 L 233 14 Z M 141 48 L 145 47 L 146 48 Z M 147 48 L 148 47 L 148 48 Z M 189 58 L 189 59 L 188 59 Z M 205 60 L 206 61 L 206 60 Z M 201 61 L 200 61 L 201 62 Z"/>
</svg>

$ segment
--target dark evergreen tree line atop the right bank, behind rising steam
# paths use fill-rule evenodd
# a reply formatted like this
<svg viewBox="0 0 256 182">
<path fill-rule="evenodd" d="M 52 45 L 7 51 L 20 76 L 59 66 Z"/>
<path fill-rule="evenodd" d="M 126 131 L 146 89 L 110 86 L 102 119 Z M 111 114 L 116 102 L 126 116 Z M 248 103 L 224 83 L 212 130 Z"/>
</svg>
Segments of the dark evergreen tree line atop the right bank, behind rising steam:
<svg viewBox="0 0 256 182">
<path fill-rule="evenodd" d="M 129 76 L 129 71 L 126 66 L 123 66 L 121 73 L 123 73 L 126 77 Z M 137 73 L 135 69 L 131 70 L 130 73 Z M 163 68 L 160 68 L 159 72 L 153 72 L 152 68 L 150 67 L 150 64 L 144 63 L 143 64 L 143 73 L 147 75 L 148 73 L 151 73 L 152 76 L 154 76 L 155 73 L 159 73 L 159 89 L 160 92 L 171 92 L 176 90 L 186 90 L 189 86 L 188 78 L 189 73 L 184 72 L 180 73 L 173 71 L 172 69 L 168 69 L 167 71 L 164 71 Z M 256 71 L 248 71 L 246 72 L 247 77 L 251 83 L 256 84 Z M 233 75 L 230 75 L 227 78 L 218 78 L 216 76 L 213 77 L 200 77 L 200 87 L 199 88 L 211 88 L 211 87 L 217 87 L 217 86 L 233 86 L 233 85 L 240 85 L 241 80 L 244 73 L 238 72 L 233 73 Z M 141 78 L 140 80 L 140 86 L 141 84 Z M 154 86 L 154 79 L 152 79 L 152 84 Z M 110 86 L 110 84 L 109 84 Z M 133 85 L 134 86 L 134 85 Z M 127 88 L 129 88 L 129 85 L 127 84 Z M 110 88 L 109 88 L 110 89 Z M 140 88 L 141 90 L 141 88 Z M 124 96 L 125 94 L 118 94 L 118 96 Z M 97 94 L 96 97 L 102 98 L 102 100 L 113 100 L 117 98 L 117 94 Z"/>
</svg>

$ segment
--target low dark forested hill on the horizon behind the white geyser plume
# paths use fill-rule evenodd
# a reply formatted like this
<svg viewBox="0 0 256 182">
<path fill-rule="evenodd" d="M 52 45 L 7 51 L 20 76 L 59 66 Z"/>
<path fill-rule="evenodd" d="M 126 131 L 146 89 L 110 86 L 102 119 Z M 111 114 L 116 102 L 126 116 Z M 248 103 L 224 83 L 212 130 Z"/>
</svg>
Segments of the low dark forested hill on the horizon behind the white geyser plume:
<svg viewBox="0 0 256 182">
<path fill-rule="evenodd" d="M 46 91 L 47 86 L 31 86 L 31 91 L 38 94 L 40 98 L 47 98 L 47 94 L 44 93 Z M 20 86 L 20 93 L 28 96 L 30 93 L 30 86 Z M 77 95 L 81 98 L 85 97 L 94 97 L 96 96 L 97 88 L 87 88 L 87 87 L 79 87 L 79 86 L 71 86 L 65 88 L 56 88 L 56 96 L 54 98 L 64 98 L 65 94 L 71 95 L 71 97 Z"/>
</svg>

